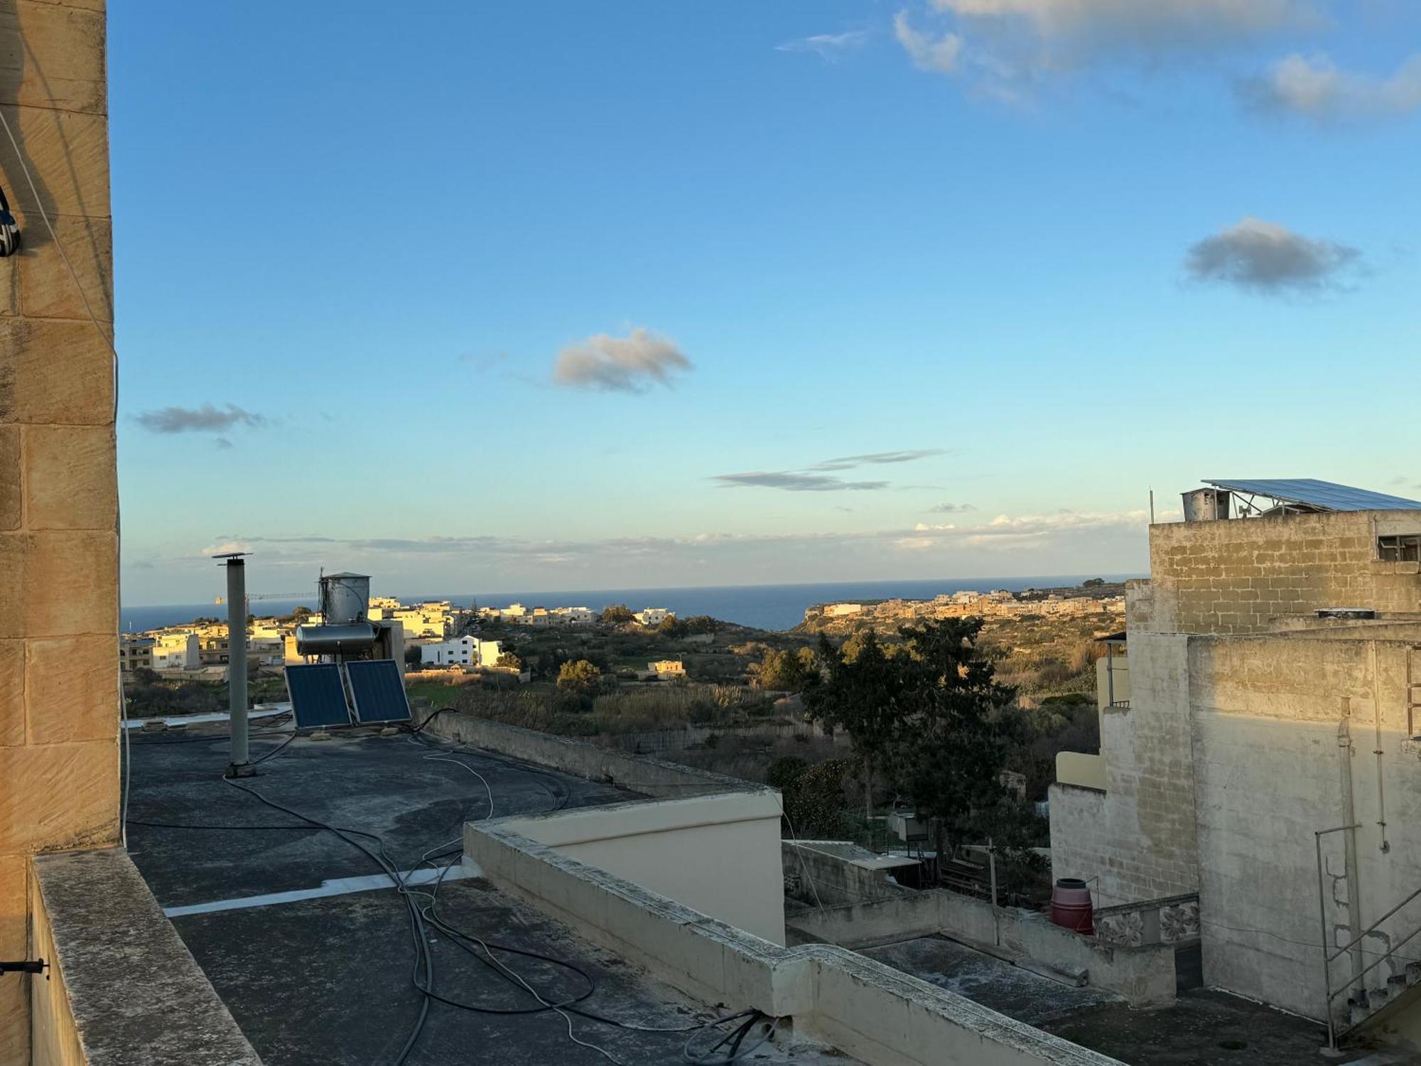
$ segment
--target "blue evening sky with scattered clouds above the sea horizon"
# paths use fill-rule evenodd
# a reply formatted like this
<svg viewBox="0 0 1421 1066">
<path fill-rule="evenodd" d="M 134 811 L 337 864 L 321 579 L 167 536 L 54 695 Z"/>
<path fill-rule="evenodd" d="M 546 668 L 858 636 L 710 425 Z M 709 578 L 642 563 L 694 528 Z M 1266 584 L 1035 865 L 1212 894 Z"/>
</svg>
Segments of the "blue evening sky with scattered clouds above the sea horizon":
<svg viewBox="0 0 1421 1066">
<path fill-rule="evenodd" d="M 1421 495 L 1418 54 L 1401 0 L 114 3 L 125 600 L 1123 573 L 1150 488 Z"/>
</svg>

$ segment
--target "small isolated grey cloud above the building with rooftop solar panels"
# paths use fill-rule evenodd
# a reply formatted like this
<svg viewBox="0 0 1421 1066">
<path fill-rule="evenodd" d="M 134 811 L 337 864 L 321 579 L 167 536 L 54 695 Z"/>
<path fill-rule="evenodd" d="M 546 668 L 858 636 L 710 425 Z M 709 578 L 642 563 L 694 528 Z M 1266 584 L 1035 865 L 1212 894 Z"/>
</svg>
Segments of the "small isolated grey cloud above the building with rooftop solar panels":
<svg viewBox="0 0 1421 1066">
<path fill-rule="evenodd" d="M 1191 244 L 1184 267 L 1195 281 L 1219 281 L 1253 293 L 1320 293 L 1341 287 L 1349 271 L 1360 267 L 1360 257 L 1347 244 L 1246 217 Z"/>
</svg>

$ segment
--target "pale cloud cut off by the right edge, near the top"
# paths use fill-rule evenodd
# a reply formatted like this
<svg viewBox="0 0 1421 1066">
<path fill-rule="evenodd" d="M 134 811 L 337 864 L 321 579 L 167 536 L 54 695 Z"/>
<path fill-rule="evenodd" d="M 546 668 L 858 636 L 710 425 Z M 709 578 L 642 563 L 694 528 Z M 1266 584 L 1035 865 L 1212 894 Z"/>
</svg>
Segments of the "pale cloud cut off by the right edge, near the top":
<svg viewBox="0 0 1421 1066">
<path fill-rule="evenodd" d="M 1339 70 L 1322 53 L 1293 53 L 1238 88 L 1243 102 L 1258 111 L 1323 124 L 1407 115 L 1421 108 L 1421 54 L 1407 58 L 1390 77 L 1377 78 Z"/>
</svg>

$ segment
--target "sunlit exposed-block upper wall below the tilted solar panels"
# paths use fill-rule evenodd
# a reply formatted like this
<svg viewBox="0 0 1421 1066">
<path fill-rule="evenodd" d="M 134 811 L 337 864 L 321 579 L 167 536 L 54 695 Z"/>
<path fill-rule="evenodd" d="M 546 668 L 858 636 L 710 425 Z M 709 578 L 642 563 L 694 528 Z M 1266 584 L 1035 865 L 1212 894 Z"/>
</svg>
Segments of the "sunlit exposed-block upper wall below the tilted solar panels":
<svg viewBox="0 0 1421 1066">
<path fill-rule="evenodd" d="M 1421 566 L 1376 559 L 1378 534 L 1421 533 L 1421 512 L 1286 515 L 1150 527 L 1151 611 L 1130 631 L 1266 632 L 1319 607 L 1421 611 Z M 1133 645 L 1131 645 L 1133 647 Z"/>
</svg>

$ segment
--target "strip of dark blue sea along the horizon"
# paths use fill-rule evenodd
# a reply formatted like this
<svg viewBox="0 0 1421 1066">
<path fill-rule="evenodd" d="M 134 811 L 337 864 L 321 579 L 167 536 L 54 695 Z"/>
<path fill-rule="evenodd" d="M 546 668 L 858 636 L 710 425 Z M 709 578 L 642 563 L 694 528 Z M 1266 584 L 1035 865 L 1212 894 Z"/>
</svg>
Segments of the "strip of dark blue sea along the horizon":
<svg viewBox="0 0 1421 1066">
<path fill-rule="evenodd" d="M 1023 588 L 1054 588 L 1076 586 L 1088 577 L 1104 577 L 1107 581 L 1124 581 L 1142 574 L 1073 574 L 1054 577 L 945 577 L 926 581 L 831 581 L 826 584 L 753 584 L 720 586 L 709 588 L 598 588 L 580 593 L 421 593 L 402 594 L 404 603 L 421 600 L 449 600 L 468 607 L 507 607 L 523 603 L 530 607 L 603 607 L 624 603 L 634 611 L 642 607 L 665 607 L 682 618 L 693 614 L 709 614 L 725 621 L 753 625 L 757 630 L 789 630 L 804 621 L 804 610 L 816 603 L 837 603 L 840 600 L 931 600 L 934 596 L 961 593 L 963 590 L 988 591 L 1009 588 L 1013 593 Z M 387 594 L 384 591 L 381 596 Z M 297 607 L 315 607 L 315 598 L 308 600 L 257 600 L 252 604 L 254 614 L 290 614 Z M 193 618 L 226 618 L 226 605 L 216 604 L 172 604 L 159 607 L 125 607 L 122 610 L 125 630 L 156 630 L 162 625 L 180 625 Z"/>
</svg>

